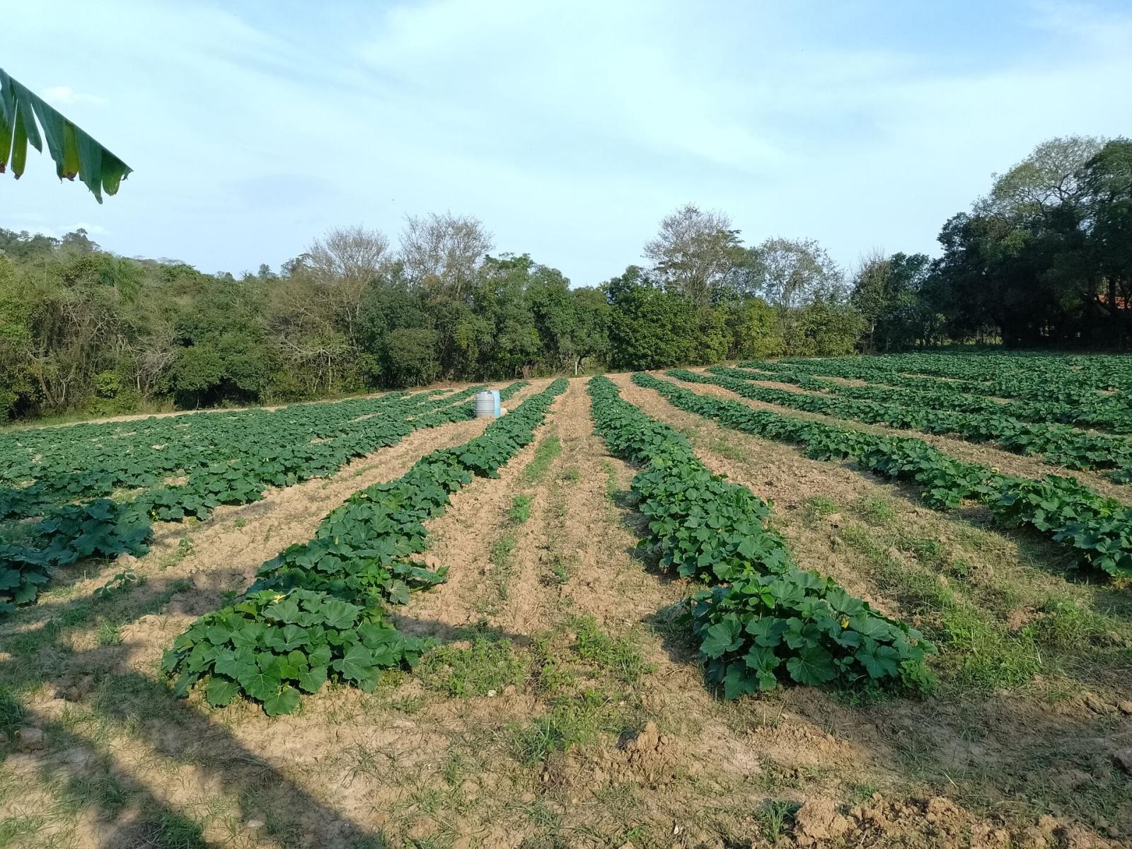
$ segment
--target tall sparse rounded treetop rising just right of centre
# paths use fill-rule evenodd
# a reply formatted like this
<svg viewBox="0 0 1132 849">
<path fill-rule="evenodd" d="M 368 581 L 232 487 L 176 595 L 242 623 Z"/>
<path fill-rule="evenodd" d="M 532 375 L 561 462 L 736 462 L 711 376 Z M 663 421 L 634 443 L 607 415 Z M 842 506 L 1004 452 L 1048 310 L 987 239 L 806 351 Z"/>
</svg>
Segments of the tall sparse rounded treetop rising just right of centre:
<svg viewBox="0 0 1132 849">
<path fill-rule="evenodd" d="M 660 222 L 657 238 L 644 247 L 652 272 L 664 288 L 698 306 L 723 297 L 743 259 L 739 231 L 721 212 L 685 204 Z"/>
</svg>

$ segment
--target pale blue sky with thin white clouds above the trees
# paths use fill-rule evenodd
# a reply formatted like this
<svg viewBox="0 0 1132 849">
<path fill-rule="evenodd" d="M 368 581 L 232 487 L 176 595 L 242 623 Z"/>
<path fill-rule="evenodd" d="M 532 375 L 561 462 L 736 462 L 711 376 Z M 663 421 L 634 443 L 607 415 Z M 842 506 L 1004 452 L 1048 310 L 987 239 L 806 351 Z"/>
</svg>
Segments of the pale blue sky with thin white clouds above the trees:
<svg viewBox="0 0 1132 849">
<path fill-rule="evenodd" d="M 0 62 L 135 172 L 29 152 L 0 226 L 277 267 L 340 225 L 479 217 L 574 285 L 685 203 L 741 238 L 937 254 L 1039 142 L 1132 135 L 1132 3 L 0 2 Z"/>
</svg>

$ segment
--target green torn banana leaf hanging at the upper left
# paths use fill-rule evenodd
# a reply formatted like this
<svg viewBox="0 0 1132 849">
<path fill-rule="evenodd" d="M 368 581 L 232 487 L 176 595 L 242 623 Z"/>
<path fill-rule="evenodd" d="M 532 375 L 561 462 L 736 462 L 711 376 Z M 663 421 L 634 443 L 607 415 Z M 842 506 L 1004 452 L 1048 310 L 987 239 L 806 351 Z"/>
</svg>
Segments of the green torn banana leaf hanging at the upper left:
<svg viewBox="0 0 1132 849">
<path fill-rule="evenodd" d="M 43 153 L 44 138 L 59 179 L 78 177 L 100 204 L 132 170 L 0 68 L 0 173 L 11 162 L 12 175 L 23 177 L 28 143 Z"/>
</svg>

